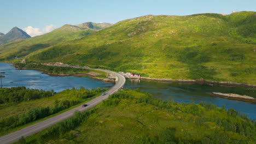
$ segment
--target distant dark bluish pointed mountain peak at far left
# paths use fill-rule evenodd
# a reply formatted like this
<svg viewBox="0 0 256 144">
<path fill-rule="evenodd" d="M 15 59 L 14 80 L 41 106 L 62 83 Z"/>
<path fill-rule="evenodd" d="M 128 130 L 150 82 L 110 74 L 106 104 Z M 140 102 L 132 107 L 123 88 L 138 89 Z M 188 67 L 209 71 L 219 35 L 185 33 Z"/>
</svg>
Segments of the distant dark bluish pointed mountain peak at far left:
<svg viewBox="0 0 256 144">
<path fill-rule="evenodd" d="M 26 32 L 22 31 L 18 27 L 12 28 L 7 34 L 0 33 L 2 37 L 0 37 L 0 45 L 10 43 L 11 41 L 17 40 L 17 39 L 27 39 L 31 38 L 30 35 L 28 35 Z"/>
</svg>

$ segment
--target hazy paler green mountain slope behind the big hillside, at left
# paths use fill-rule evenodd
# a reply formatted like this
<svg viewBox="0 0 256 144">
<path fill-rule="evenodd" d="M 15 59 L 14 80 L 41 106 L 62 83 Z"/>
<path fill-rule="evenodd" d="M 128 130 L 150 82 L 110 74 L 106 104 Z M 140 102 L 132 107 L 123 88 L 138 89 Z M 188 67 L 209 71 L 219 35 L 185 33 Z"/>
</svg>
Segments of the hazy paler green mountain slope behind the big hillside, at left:
<svg viewBox="0 0 256 144">
<path fill-rule="evenodd" d="M 110 23 L 106 23 L 106 25 L 101 25 L 101 23 L 88 23 L 93 27 L 85 27 L 83 24 L 81 24 L 81 26 L 64 25 L 52 32 L 39 35 L 37 37 L 25 40 L 16 40 L 12 43 L 2 45 L 0 46 L 0 57 L 5 57 L 4 59 L 13 59 L 14 57 L 26 56 L 28 53 L 62 43 L 66 40 L 77 39 L 85 35 L 95 33 L 96 31 L 111 25 Z"/>
</svg>

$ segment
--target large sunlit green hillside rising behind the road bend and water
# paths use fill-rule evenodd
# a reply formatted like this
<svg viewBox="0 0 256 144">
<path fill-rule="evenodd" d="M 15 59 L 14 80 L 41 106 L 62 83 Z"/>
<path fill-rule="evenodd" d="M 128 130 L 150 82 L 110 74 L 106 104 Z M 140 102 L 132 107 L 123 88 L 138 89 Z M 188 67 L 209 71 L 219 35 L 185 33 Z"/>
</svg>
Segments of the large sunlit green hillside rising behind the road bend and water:
<svg viewBox="0 0 256 144">
<path fill-rule="evenodd" d="M 146 77 L 256 84 L 255 23 L 254 11 L 226 16 L 147 15 L 25 58 L 27 62 L 88 65 Z"/>
</svg>

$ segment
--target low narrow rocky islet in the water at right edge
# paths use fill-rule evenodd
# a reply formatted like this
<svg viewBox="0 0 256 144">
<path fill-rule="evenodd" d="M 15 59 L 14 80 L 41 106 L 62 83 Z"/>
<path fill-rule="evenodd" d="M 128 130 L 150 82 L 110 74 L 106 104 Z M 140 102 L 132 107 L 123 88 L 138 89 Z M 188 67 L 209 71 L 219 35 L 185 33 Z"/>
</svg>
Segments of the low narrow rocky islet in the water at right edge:
<svg viewBox="0 0 256 144">
<path fill-rule="evenodd" d="M 249 97 L 247 95 L 239 95 L 239 94 L 232 94 L 232 93 L 217 93 L 217 92 L 212 92 L 210 94 L 216 97 L 224 98 L 224 99 L 240 100 L 240 101 L 256 103 L 255 98 Z"/>
</svg>

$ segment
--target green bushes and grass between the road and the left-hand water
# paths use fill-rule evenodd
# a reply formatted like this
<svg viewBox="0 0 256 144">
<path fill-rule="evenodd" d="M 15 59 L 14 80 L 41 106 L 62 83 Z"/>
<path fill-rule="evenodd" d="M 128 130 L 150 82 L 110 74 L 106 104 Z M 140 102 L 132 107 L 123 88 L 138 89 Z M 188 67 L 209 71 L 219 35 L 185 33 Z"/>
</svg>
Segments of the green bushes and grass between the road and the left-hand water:
<svg viewBox="0 0 256 144">
<path fill-rule="evenodd" d="M 106 89 L 101 89 L 101 88 L 97 88 L 97 89 L 85 89 L 84 87 L 80 87 L 80 89 L 75 89 L 74 87 L 69 90 L 66 89 L 65 91 L 62 91 L 60 93 L 54 94 L 52 92 L 45 92 L 43 93 L 42 90 L 38 90 L 38 89 L 26 89 L 25 87 L 13 87 L 13 88 L 1 88 L 0 91 L 4 92 L 1 94 L 5 94 L 5 95 L 19 95 L 18 93 L 29 93 L 31 92 L 32 95 L 34 95 L 33 92 L 38 92 L 39 96 L 41 99 L 39 99 L 39 103 L 40 101 L 42 101 L 41 103 L 43 103 L 43 105 L 33 105 L 33 104 L 37 104 L 38 101 L 33 101 L 32 99 L 30 99 L 30 103 L 28 101 L 24 101 L 23 105 L 26 107 L 29 107 L 27 110 L 23 110 L 24 107 L 22 107 L 22 104 L 19 105 L 19 101 L 15 101 L 16 103 L 14 105 L 16 105 L 15 110 L 16 111 L 21 111 L 21 112 L 16 112 L 16 114 L 14 115 L 8 115 L 7 113 L 5 113 L 5 115 L 2 115 L 0 118 L 0 135 L 2 134 L 7 134 L 8 131 L 13 130 L 17 127 L 20 127 L 21 125 L 25 125 L 27 123 L 30 122 L 34 122 L 37 121 L 38 119 L 53 115 L 55 113 L 58 113 L 62 110 L 68 109 L 71 106 L 83 103 L 84 101 L 95 97 L 96 95 L 102 93 L 103 91 L 106 91 Z M 40 93 L 39 93 L 40 92 Z M 45 94 L 50 94 L 48 96 L 45 96 Z M 22 99 L 22 98 L 21 98 Z M 24 98 L 26 100 L 26 94 L 24 96 Z M 48 105 L 44 105 L 44 101 L 45 99 L 50 99 L 47 100 L 48 101 Z M 13 102 L 13 101 L 11 101 Z M 13 105 L 10 104 L 10 106 L 8 104 L 5 105 L 0 105 L 0 113 L 2 112 L 6 112 L 7 110 L 10 110 L 10 107 L 12 107 Z M 10 112 L 11 113 L 11 112 Z"/>
</svg>

